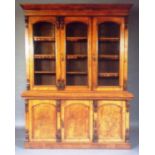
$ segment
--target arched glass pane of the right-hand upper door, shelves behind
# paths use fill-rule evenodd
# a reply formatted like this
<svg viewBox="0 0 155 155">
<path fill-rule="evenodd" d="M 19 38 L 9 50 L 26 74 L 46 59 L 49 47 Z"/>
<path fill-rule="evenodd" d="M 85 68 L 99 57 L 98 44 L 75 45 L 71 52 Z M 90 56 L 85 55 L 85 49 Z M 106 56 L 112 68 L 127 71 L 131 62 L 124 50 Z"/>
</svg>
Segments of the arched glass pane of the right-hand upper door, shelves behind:
<svg viewBox="0 0 155 155">
<path fill-rule="evenodd" d="M 98 27 L 98 85 L 119 85 L 120 26 L 113 22 Z"/>
</svg>

